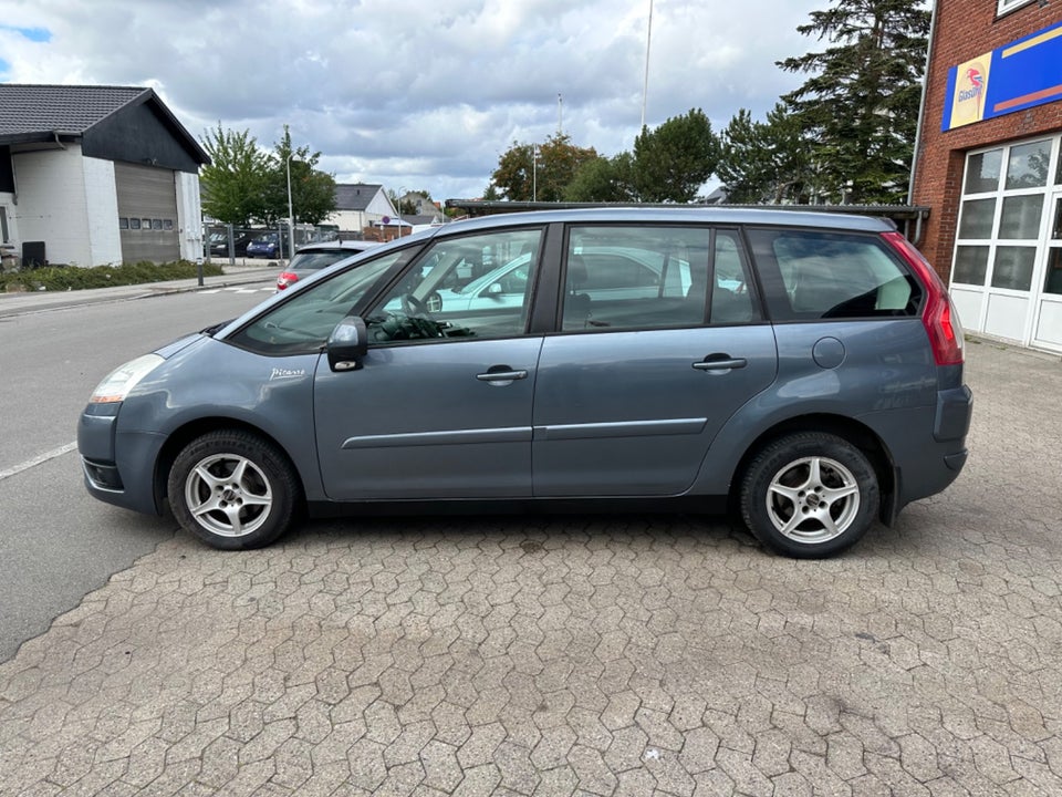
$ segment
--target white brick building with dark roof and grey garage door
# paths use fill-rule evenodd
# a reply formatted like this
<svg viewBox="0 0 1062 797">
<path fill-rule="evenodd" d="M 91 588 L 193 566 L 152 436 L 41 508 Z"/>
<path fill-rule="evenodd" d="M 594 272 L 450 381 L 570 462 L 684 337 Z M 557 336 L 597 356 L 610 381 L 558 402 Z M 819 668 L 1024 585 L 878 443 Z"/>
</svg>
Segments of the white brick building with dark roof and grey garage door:
<svg viewBox="0 0 1062 797">
<path fill-rule="evenodd" d="M 150 89 L 0 84 L 0 242 L 39 265 L 194 260 L 209 162 Z"/>
</svg>

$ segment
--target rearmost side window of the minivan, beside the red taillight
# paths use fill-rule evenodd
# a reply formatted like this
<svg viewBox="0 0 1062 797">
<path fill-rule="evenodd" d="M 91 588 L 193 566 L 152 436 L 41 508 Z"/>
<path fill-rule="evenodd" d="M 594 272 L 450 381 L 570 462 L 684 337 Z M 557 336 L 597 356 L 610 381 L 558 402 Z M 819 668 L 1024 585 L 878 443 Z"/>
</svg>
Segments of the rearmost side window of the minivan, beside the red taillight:
<svg viewBox="0 0 1062 797">
<path fill-rule="evenodd" d="M 753 229 L 749 240 L 777 321 L 918 314 L 922 287 L 876 235 Z"/>
</svg>

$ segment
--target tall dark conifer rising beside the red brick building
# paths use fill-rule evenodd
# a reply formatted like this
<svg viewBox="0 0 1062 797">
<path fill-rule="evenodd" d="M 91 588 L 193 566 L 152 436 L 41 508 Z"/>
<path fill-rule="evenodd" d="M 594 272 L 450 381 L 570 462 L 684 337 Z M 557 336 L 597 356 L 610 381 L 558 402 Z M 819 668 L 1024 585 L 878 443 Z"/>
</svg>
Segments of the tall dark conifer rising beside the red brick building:
<svg viewBox="0 0 1062 797">
<path fill-rule="evenodd" d="M 782 100 L 809 134 L 824 198 L 906 197 L 929 19 L 920 0 L 833 0 L 796 29 L 829 44 L 778 62 L 812 74 Z"/>
</svg>

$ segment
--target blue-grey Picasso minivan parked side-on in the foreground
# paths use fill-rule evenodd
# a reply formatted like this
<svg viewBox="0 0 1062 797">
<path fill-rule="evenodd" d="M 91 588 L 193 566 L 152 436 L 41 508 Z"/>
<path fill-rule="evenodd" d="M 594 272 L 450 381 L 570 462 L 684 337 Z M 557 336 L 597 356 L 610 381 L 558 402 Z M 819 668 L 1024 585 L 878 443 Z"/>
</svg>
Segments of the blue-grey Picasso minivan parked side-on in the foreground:
<svg viewBox="0 0 1062 797">
<path fill-rule="evenodd" d="M 110 374 L 88 490 L 227 549 L 305 509 L 740 513 L 823 557 L 946 488 L 972 398 L 888 221 L 513 214 L 403 238 Z"/>
</svg>

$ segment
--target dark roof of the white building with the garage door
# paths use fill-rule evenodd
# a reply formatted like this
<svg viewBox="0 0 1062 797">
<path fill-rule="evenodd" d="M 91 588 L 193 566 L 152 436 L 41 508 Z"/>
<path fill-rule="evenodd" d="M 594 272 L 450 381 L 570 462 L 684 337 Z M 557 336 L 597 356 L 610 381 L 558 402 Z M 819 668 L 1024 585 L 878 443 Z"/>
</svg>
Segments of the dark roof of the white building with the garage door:
<svg viewBox="0 0 1062 797">
<path fill-rule="evenodd" d="M 0 144 L 84 135 L 123 108 L 150 103 L 200 163 L 209 156 L 153 89 L 143 86 L 0 83 Z"/>
</svg>

